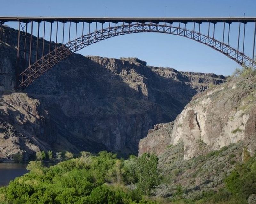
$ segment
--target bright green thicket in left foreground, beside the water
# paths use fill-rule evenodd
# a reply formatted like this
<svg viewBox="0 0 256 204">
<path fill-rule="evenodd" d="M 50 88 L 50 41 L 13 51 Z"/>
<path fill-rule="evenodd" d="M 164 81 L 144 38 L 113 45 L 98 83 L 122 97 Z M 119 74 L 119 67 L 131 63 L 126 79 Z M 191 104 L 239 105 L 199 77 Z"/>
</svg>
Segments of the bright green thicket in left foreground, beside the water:
<svg viewBox="0 0 256 204">
<path fill-rule="evenodd" d="M 45 155 L 40 152 L 37 159 Z M 69 156 L 73 155 L 65 155 Z M 0 188 L 0 203 L 156 203 L 143 197 L 159 181 L 156 155 L 131 156 L 124 161 L 105 151 L 98 156 L 81 153 L 79 158 L 49 168 L 42 161 L 31 161 L 27 170 L 29 173 Z"/>
</svg>

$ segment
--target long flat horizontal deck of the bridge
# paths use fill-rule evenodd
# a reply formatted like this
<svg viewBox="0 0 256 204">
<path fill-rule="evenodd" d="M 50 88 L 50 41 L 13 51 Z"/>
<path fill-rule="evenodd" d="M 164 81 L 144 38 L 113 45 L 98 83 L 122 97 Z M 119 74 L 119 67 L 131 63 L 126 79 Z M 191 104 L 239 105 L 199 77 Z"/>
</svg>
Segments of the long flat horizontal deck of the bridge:
<svg viewBox="0 0 256 204">
<path fill-rule="evenodd" d="M 152 23 L 160 23 L 160 22 L 166 22 L 166 23 L 174 23 L 174 22 L 180 22 L 180 23 L 190 23 L 190 22 L 196 22 L 196 23 L 204 23 L 204 22 L 210 22 L 210 23 L 218 23 L 218 22 L 226 22 L 226 23 L 233 23 L 233 22 L 242 22 L 242 23 L 249 23 L 249 22 L 256 22 L 256 17 L 177 17 L 177 18 L 121 18 L 121 17 L 23 17 L 23 16 L 0 16 L 0 22 L 9 22 L 9 21 L 20 21 L 20 22 L 41 22 L 41 21 L 47 21 L 47 22 L 99 22 L 99 23 L 105 23 L 105 22 L 112 22 L 112 23 L 119 23 L 119 22 L 125 22 L 125 23 L 132 23 L 132 22 L 152 22 Z"/>
</svg>

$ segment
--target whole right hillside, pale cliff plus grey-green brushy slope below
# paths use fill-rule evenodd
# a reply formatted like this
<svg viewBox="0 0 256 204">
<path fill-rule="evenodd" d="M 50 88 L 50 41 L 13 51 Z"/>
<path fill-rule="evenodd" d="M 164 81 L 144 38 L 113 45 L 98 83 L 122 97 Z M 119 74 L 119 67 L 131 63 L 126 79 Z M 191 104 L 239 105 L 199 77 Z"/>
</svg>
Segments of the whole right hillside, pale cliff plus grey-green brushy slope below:
<svg viewBox="0 0 256 204">
<path fill-rule="evenodd" d="M 183 196 L 218 190 L 237 164 L 256 150 L 256 76 L 228 82 L 196 94 L 173 122 L 158 124 L 140 140 L 139 155 L 156 153 L 165 184 L 156 195 Z M 242 168 L 242 167 L 241 167 Z"/>
</svg>

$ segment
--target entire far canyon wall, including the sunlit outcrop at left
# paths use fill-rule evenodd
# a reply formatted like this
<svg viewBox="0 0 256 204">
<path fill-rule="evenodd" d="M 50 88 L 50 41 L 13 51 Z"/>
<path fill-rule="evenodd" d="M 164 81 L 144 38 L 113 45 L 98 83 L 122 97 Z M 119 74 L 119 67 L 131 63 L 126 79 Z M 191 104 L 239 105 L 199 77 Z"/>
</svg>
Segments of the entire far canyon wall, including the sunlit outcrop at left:
<svg viewBox="0 0 256 204">
<path fill-rule="evenodd" d="M 40 76 L 25 93 L 17 93 L 13 90 L 16 35 L 15 30 L 5 27 L 0 44 L 2 97 L 6 95 L 0 118 L 34 145 L 29 152 L 108 150 L 136 154 L 148 129 L 174 120 L 209 84 L 226 81 L 214 74 L 147 66 L 137 58 L 73 54 Z M 7 99 L 9 105 L 4 102 Z M 13 143 L 17 147 L 13 152 L 28 151 L 24 145 Z"/>
</svg>

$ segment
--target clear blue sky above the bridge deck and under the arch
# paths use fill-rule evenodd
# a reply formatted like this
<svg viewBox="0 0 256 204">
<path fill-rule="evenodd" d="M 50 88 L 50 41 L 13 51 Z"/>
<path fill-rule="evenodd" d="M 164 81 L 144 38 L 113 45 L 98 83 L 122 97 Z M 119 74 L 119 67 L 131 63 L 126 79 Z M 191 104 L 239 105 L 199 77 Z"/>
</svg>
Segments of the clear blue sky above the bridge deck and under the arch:
<svg viewBox="0 0 256 204">
<path fill-rule="evenodd" d="M 256 16 L 255 0 L 0 0 L 1 16 L 223 17 Z M 233 60 L 180 36 L 139 33 L 117 36 L 79 51 L 83 55 L 138 57 L 148 65 L 230 75 Z"/>
</svg>

